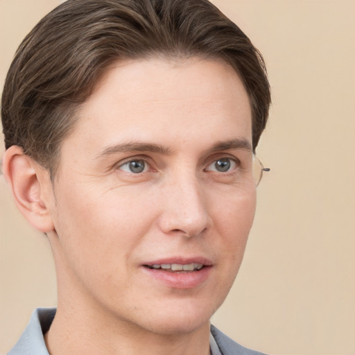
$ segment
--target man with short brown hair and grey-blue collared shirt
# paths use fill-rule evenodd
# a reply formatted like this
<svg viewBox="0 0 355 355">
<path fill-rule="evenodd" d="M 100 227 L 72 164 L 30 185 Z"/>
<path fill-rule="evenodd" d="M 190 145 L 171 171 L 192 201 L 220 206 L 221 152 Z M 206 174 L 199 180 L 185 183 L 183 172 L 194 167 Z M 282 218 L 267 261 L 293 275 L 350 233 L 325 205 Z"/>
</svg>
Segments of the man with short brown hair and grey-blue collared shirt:
<svg viewBox="0 0 355 355">
<path fill-rule="evenodd" d="M 58 308 L 9 354 L 260 354 L 209 319 L 243 258 L 269 105 L 260 53 L 207 0 L 44 17 L 3 89 L 3 172 L 48 236 Z"/>
</svg>

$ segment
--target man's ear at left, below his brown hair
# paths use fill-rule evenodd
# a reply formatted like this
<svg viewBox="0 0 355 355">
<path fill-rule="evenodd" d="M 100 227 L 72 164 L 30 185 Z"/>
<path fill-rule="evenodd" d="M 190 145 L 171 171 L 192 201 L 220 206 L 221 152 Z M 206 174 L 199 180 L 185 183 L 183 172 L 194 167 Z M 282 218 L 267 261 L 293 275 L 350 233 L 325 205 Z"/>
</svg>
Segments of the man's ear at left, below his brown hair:
<svg viewBox="0 0 355 355">
<path fill-rule="evenodd" d="M 51 218 L 53 189 L 49 172 L 19 146 L 11 146 L 3 156 L 3 174 L 15 204 L 33 227 L 41 232 L 54 230 Z"/>
</svg>

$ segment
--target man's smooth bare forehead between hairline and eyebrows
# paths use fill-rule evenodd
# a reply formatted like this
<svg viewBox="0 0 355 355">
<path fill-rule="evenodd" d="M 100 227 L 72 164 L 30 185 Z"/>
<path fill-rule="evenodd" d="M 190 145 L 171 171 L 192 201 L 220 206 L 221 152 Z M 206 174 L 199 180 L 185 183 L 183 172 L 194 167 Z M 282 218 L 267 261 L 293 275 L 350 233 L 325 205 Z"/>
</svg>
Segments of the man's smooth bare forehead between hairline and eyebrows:
<svg viewBox="0 0 355 355">
<path fill-rule="evenodd" d="M 220 61 L 118 62 L 77 114 L 62 148 L 78 154 L 120 140 L 171 145 L 242 136 L 252 143 L 248 94 L 234 69 Z"/>
</svg>

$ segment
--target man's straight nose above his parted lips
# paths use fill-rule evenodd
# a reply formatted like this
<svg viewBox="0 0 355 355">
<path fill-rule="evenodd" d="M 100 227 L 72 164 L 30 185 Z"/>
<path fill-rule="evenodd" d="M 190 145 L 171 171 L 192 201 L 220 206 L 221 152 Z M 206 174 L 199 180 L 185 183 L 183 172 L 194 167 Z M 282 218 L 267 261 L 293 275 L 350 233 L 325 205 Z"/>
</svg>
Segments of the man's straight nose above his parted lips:
<svg viewBox="0 0 355 355">
<path fill-rule="evenodd" d="M 191 237 L 211 227 L 207 195 L 196 177 L 175 179 L 164 186 L 162 193 L 162 232 Z"/>
</svg>

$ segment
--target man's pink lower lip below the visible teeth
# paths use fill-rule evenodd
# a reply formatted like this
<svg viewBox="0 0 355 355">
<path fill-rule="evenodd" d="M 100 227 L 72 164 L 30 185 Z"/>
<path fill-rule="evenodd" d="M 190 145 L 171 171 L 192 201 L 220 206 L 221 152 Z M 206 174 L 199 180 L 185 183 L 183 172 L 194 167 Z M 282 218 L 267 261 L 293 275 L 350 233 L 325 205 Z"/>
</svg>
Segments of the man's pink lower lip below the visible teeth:
<svg viewBox="0 0 355 355">
<path fill-rule="evenodd" d="M 211 266 L 204 266 L 201 270 L 191 272 L 170 272 L 143 266 L 143 269 L 157 281 L 162 282 L 168 287 L 181 289 L 194 288 L 206 282 L 211 268 Z"/>
</svg>

